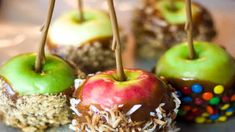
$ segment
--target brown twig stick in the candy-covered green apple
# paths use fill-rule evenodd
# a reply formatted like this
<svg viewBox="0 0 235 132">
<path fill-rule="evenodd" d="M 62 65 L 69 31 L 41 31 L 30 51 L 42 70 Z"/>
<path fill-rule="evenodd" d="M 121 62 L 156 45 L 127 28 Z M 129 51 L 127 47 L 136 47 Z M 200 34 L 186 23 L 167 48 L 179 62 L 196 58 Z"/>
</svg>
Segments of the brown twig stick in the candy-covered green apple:
<svg viewBox="0 0 235 132">
<path fill-rule="evenodd" d="M 185 4 L 186 4 L 186 14 L 187 14 L 187 22 L 185 24 L 185 30 L 187 31 L 189 59 L 195 59 L 196 56 L 193 46 L 193 20 L 192 20 L 191 0 L 185 0 Z"/>
</svg>

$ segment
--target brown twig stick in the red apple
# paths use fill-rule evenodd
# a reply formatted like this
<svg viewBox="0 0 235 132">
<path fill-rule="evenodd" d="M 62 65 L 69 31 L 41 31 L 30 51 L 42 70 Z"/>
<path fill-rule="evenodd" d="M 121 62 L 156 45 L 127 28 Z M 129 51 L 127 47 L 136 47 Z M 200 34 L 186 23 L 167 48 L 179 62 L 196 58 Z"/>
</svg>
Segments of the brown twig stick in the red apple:
<svg viewBox="0 0 235 132">
<path fill-rule="evenodd" d="M 124 73 L 123 64 L 122 64 L 121 40 L 120 40 L 120 35 L 119 35 L 117 16 L 116 16 L 113 0 L 107 0 L 107 2 L 109 6 L 110 19 L 111 19 L 112 28 L 113 28 L 113 36 L 114 36 L 113 39 L 115 39 L 116 41 L 116 46 L 114 46 L 115 43 L 113 43 L 113 48 L 116 48 L 115 56 L 116 56 L 118 80 L 125 81 L 126 75 Z"/>
</svg>

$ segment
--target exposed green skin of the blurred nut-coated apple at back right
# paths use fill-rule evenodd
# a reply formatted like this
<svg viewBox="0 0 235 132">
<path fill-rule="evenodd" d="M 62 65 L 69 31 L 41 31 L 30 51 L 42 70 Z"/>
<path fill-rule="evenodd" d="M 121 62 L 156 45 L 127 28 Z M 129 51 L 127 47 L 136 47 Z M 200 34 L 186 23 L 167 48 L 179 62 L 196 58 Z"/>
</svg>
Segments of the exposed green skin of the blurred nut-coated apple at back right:
<svg viewBox="0 0 235 132">
<path fill-rule="evenodd" d="M 186 22 L 185 3 L 182 0 L 175 0 L 176 10 L 170 10 L 168 0 L 159 0 L 156 2 L 156 8 L 162 17 L 170 24 L 184 24 Z M 192 17 L 195 19 L 200 14 L 201 9 L 192 4 Z"/>
</svg>

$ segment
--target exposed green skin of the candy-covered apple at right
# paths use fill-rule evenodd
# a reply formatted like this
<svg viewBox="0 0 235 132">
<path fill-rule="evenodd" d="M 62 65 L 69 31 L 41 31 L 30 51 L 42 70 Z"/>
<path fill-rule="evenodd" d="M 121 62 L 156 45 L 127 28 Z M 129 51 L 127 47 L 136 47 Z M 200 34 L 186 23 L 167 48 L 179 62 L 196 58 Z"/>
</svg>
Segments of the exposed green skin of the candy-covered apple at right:
<svg viewBox="0 0 235 132">
<path fill-rule="evenodd" d="M 188 59 L 187 43 L 169 49 L 159 60 L 158 76 L 184 80 L 203 80 L 226 85 L 235 77 L 235 61 L 221 47 L 207 42 L 194 42 L 196 59 Z"/>
</svg>

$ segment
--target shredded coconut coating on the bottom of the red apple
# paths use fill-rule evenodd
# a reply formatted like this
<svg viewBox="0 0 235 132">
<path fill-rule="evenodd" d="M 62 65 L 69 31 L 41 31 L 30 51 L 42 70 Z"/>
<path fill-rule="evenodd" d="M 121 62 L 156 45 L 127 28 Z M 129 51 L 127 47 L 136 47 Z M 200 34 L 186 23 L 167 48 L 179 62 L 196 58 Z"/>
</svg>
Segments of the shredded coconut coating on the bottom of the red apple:
<svg viewBox="0 0 235 132">
<path fill-rule="evenodd" d="M 83 80 L 84 81 L 84 80 Z M 82 81 L 75 81 L 76 86 L 81 86 Z M 180 100 L 177 98 L 175 93 L 171 94 L 172 99 L 175 102 L 175 108 L 170 113 L 166 113 L 163 109 L 165 103 L 161 103 L 153 112 L 150 112 L 152 117 L 146 122 L 135 122 L 131 120 L 131 115 L 141 108 L 141 104 L 134 105 L 127 113 L 122 113 L 119 108 L 124 107 L 124 105 L 118 105 L 113 109 L 103 109 L 100 110 L 94 105 L 89 107 L 87 112 L 88 115 L 82 115 L 78 109 L 77 105 L 81 102 L 79 99 L 71 99 L 71 109 L 77 115 L 77 117 L 72 121 L 70 129 L 80 132 L 118 132 L 118 131 L 169 131 L 177 132 L 180 129 L 175 126 L 174 118 L 178 112 L 180 106 Z M 83 116 L 83 117 L 82 117 Z M 81 121 L 80 118 L 83 118 Z"/>
</svg>

